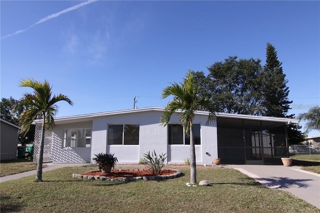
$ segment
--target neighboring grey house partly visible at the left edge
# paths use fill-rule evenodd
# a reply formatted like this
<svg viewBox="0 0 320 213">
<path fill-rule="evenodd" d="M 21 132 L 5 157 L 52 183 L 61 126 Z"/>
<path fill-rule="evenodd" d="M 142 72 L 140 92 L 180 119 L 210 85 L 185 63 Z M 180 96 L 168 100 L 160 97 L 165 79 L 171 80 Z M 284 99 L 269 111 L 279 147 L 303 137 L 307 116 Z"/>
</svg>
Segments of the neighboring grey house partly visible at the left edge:
<svg viewBox="0 0 320 213">
<path fill-rule="evenodd" d="M 19 140 L 18 126 L 0 118 L 0 159 L 16 159 L 16 151 Z"/>
</svg>

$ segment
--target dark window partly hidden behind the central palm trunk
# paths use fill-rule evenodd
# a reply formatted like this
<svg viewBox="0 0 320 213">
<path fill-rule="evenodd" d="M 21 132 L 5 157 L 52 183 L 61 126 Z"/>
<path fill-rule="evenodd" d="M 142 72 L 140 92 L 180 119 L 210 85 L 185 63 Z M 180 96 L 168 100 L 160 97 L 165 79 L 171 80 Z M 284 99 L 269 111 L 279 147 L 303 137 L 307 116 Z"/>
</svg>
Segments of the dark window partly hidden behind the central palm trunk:
<svg viewBox="0 0 320 213">
<path fill-rule="evenodd" d="M 200 145 L 200 124 L 193 124 L 193 138 L 194 144 Z M 190 144 L 189 135 L 183 134 L 184 130 L 180 124 L 169 124 L 168 125 L 168 144 Z"/>
</svg>

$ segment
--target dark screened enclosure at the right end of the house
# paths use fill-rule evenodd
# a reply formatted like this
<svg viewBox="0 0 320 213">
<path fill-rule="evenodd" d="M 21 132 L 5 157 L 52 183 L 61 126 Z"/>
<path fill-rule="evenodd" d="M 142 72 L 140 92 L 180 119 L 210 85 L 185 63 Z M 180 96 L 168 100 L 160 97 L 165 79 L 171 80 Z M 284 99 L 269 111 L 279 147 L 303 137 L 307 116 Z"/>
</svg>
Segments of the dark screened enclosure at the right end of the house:
<svg viewBox="0 0 320 213">
<path fill-rule="evenodd" d="M 287 157 L 283 123 L 217 118 L 218 158 L 224 164 L 280 164 Z"/>
</svg>

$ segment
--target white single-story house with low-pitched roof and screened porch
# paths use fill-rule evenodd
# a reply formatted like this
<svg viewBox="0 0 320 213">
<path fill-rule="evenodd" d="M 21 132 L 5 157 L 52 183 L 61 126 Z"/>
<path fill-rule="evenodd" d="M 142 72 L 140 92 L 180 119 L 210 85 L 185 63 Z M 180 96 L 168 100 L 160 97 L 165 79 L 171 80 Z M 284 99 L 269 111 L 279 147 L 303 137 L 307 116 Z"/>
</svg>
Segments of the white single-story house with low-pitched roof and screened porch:
<svg viewBox="0 0 320 213">
<path fill-rule="evenodd" d="M 94 154 L 114 153 L 120 164 L 138 163 L 143 154 L 166 153 L 167 164 L 183 164 L 189 158 L 189 138 L 175 112 L 167 126 L 159 122 L 164 108 L 147 107 L 55 118 L 45 133 L 44 161 L 92 162 Z M 298 120 L 218 113 L 206 126 L 208 112 L 196 111 L 193 135 L 197 164 L 279 164 L 288 156 L 286 125 Z M 34 161 L 41 121 L 34 122 Z"/>
</svg>

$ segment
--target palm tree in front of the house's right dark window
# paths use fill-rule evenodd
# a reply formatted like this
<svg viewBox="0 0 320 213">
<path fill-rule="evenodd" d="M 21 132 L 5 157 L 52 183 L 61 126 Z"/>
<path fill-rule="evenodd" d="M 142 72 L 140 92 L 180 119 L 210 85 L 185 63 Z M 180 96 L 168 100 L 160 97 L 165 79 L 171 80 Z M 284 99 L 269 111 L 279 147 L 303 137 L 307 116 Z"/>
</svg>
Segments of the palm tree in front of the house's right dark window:
<svg viewBox="0 0 320 213">
<path fill-rule="evenodd" d="M 184 126 L 185 134 L 190 136 L 190 183 L 196 184 L 195 168 L 195 148 L 192 132 L 192 122 L 196 110 L 206 110 L 209 112 L 206 125 L 215 121 L 215 112 L 213 104 L 208 99 L 201 98 L 198 94 L 199 86 L 195 83 L 193 72 L 188 70 L 183 83 L 171 83 L 162 91 L 162 98 L 173 95 L 173 100 L 167 103 L 161 115 L 160 122 L 166 126 L 174 112 L 179 112 L 179 123 Z"/>
</svg>

